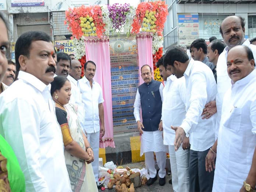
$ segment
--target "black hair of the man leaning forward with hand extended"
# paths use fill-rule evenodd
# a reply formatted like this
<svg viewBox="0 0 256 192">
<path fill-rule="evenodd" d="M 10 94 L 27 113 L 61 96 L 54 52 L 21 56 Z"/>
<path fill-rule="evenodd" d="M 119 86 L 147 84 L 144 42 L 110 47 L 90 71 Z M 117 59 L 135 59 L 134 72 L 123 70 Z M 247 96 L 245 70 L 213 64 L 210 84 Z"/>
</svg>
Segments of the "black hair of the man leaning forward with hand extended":
<svg viewBox="0 0 256 192">
<path fill-rule="evenodd" d="M 164 55 L 164 67 L 167 65 L 174 65 L 174 61 L 179 61 L 181 63 L 186 63 L 189 60 L 188 55 L 178 46 L 171 47 L 167 50 Z"/>
</svg>

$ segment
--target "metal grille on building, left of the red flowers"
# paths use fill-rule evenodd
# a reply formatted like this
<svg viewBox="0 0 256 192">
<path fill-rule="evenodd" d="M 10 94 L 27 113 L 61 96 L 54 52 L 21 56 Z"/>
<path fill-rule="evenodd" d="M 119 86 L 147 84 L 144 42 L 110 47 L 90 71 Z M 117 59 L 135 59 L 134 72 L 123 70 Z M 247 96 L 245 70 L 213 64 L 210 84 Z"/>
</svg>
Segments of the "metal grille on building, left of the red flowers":
<svg viewBox="0 0 256 192">
<path fill-rule="evenodd" d="M 68 25 L 64 25 L 65 11 L 53 12 L 53 35 L 72 35 L 67 29 Z"/>
</svg>

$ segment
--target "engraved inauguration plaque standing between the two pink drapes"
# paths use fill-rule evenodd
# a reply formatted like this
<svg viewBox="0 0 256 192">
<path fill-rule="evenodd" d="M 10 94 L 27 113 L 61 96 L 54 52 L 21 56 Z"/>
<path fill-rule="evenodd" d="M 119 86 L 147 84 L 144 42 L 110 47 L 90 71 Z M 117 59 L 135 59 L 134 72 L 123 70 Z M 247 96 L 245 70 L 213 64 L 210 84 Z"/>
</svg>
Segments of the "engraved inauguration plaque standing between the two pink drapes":
<svg viewBox="0 0 256 192">
<path fill-rule="evenodd" d="M 138 133 L 133 114 L 140 75 L 137 42 L 119 36 L 109 44 L 114 136 L 132 135 Z"/>
</svg>

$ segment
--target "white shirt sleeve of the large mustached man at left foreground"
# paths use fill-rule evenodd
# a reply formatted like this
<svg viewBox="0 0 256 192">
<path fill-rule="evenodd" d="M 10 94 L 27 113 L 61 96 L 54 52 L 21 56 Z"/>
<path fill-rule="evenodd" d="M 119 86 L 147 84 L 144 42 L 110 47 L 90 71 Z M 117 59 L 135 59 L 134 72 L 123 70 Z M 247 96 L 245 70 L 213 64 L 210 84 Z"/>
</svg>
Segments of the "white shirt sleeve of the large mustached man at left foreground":
<svg viewBox="0 0 256 192">
<path fill-rule="evenodd" d="M 40 114 L 33 101 L 16 99 L 1 114 L 6 141 L 13 147 L 26 179 L 26 191 L 48 192 L 40 165 Z M 54 118 L 54 117 L 53 117 Z M 54 167 L 49 167 L 49 171 Z"/>
</svg>

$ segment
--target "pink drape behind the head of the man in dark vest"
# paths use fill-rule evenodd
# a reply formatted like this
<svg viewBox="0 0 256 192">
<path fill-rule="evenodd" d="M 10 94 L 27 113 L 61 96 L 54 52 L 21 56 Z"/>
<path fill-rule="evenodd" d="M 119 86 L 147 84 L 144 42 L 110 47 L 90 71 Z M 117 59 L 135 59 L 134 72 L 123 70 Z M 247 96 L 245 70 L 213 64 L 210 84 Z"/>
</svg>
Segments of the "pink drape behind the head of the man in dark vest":
<svg viewBox="0 0 256 192">
<path fill-rule="evenodd" d="M 137 43 L 138 43 L 138 55 L 139 55 L 139 71 L 141 67 L 145 64 L 149 65 L 153 70 L 153 58 L 152 58 L 152 33 L 141 32 L 137 34 Z M 141 72 L 139 72 L 141 74 Z M 153 76 L 154 78 L 154 76 Z M 144 83 L 142 77 L 139 78 L 139 84 Z"/>
</svg>

